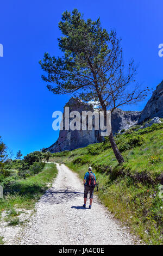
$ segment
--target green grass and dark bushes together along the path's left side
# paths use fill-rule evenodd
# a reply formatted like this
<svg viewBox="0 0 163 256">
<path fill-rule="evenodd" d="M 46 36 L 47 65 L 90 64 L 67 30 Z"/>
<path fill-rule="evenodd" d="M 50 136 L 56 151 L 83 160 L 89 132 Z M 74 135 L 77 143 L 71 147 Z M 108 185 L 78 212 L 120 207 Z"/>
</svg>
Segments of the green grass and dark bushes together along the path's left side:
<svg viewBox="0 0 163 256">
<path fill-rule="evenodd" d="M 52 184 L 57 175 L 54 163 L 48 161 L 49 153 L 35 151 L 24 157 L 23 160 L 3 162 L 0 168 L 0 185 L 3 187 L 4 196 L 0 198 L 0 221 L 2 212 L 5 212 L 5 222 L 10 226 L 22 224 L 21 211 L 34 208 L 35 202 Z M 0 236 L 0 244 L 3 244 Z"/>
</svg>

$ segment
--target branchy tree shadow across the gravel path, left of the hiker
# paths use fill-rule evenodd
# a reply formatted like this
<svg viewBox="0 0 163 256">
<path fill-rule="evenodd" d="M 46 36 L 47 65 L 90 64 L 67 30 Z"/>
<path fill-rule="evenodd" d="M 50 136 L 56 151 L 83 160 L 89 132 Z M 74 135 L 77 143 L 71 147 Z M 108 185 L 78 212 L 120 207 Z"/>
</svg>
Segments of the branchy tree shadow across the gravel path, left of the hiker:
<svg viewBox="0 0 163 256">
<path fill-rule="evenodd" d="M 74 197 L 79 197 L 84 192 L 79 191 L 71 191 L 68 190 L 55 190 L 54 188 L 49 188 L 46 193 L 41 197 L 41 201 L 47 204 L 61 204 L 62 202 L 66 202 L 67 200 L 71 200 Z"/>
</svg>

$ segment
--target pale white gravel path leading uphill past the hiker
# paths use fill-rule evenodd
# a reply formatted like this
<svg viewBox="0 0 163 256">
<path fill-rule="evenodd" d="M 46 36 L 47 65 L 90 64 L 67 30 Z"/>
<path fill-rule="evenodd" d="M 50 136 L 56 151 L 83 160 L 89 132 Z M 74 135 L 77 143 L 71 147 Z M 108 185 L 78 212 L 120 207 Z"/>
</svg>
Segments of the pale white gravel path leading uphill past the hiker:
<svg viewBox="0 0 163 256">
<path fill-rule="evenodd" d="M 128 229 L 112 217 L 96 196 L 91 210 L 82 208 L 82 182 L 64 164 L 57 164 L 57 168 L 52 188 L 36 203 L 35 214 L 12 244 L 133 245 Z"/>
</svg>

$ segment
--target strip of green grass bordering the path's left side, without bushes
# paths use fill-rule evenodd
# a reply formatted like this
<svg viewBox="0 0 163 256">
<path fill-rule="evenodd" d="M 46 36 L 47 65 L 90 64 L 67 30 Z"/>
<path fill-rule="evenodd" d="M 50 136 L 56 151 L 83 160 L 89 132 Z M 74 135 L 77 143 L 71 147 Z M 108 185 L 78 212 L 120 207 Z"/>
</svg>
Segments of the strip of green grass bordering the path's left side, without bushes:
<svg viewBox="0 0 163 256">
<path fill-rule="evenodd" d="M 21 224 L 17 217 L 21 212 L 17 212 L 15 208 L 33 209 L 35 203 L 45 193 L 55 176 L 57 176 L 56 165 L 47 163 L 39 174 L 24 180 L 16 180 L 10 186 L 10 190 L 4 194 L 4 198 L 0 199 L 0 217 L 5 210 L 7 211 L 5 221 L 8 221 L 8 225 Z M 0 237 L 0 244 L 3 244 L 3 237 Z"/>
</svg>

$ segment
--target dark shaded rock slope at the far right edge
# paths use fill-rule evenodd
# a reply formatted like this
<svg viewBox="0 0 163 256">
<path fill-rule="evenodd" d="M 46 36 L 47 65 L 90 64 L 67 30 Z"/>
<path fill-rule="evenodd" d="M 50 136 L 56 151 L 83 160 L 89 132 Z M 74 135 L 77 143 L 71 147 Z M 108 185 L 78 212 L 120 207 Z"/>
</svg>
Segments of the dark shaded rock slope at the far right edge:
<svg viewBox="0 0 163 256">
<path fill-rule="evenodd" d="M 154 117 L 163 118 L 162 102 L 163 102 L 163 81 L 157 86 L 151 99 L 148 100 L 145 108 L 141 112 L 141 115 L 138 119 L 138 124 L 141 124 L 143 121 L 146 121 Z"/>
</svg>

